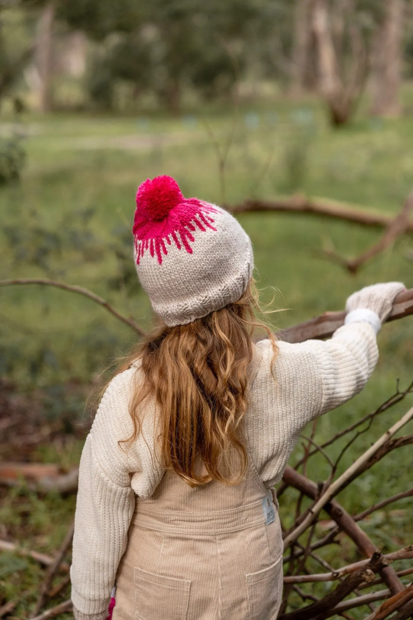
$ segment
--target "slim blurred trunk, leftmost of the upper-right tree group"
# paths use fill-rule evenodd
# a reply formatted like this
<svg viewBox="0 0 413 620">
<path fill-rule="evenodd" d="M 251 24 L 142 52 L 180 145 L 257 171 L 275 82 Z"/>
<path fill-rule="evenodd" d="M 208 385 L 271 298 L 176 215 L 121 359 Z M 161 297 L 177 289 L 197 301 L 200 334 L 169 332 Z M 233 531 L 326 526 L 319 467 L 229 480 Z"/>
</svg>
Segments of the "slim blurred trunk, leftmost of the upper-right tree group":
<svg viewBox="0 0 413 620">
<path fill-rule="evenodd" d="M 313 0 L 295 0 L 291 92 L 298 97 L 308 86 L 306 74 L 311 48 L 311 4 Z"/>
</svg>

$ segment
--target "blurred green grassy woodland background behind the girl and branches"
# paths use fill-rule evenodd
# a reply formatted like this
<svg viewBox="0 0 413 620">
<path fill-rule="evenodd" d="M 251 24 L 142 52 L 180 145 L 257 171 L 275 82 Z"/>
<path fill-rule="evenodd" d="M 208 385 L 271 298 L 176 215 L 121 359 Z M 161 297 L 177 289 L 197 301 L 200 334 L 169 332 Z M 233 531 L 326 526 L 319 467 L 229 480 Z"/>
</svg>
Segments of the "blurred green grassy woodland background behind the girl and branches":
<svg viewBox="0 0 413 620">
<path fill-rule="evenodd" d="M 169 174 L 186 196 L 238 208 L 264 303 L 275 290 L 274 329 L 343 309 L 350 293 L 376 281 L 411 288 L 412 226 L 351 269 L 348 261 L 383 231 L 300 209 L 250 207 L 310 200 L 396 216 L 413 188 L 412 78 L 407 0 L 2 0 L 0 280 L 82 286 L 149 329 L 153 316 L 132 258 L 134 193 L 147 177 Z M 383 327 L 373 378 L 321 418 L 314 441 L 411 383 L 412 321 Z M 90 428 L 90 394 L 135 339 L 92 299 L 52 286 L 1 286 L 3 463 L 70 473 Z M 405 400 L 375 419 L 338 472 L 413 404 L 409 394 Z M 292 463 L 305 445 L 300 440 Z M 331 458 L 340 450 L 331 446 Z M 0 467 L 0 539 L 53 555 L 71 523 L 74 494 L 38 492 L 41 468 L 25 477 L 7 467 Z M 339 499 L 359 513 L 406 490 L 412 473 L 406 445 Z M 325 459 L 313 459 L 307 475 L 326 479 Z M 282 497 L 287 523 L 296 500 L 292 489 Z M 362 528 L 391 552 L 412 542 L 412 508 L 406 497 Z M 358 553 L 343 541 L 323 557 L 334 565 Z M 43 573 L 32 557 L 2 551 L 0 616 L 33 614 Z M 59 583 L 46 606 L 69 596 L 64 574 Z"/>
</svg>

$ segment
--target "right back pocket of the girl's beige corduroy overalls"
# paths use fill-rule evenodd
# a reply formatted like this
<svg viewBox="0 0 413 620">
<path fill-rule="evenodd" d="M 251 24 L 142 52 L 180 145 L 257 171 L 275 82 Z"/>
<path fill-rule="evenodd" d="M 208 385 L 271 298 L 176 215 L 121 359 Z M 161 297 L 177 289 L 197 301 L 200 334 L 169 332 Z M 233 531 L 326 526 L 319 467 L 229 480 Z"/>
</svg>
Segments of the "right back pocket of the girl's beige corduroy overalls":
<svg viewBox="0 0 413 620">
<path fill-rule="evenodd" d="M 249 620 L 275 620 L 282 598 L 282 556 L 267 569 L 245 575 Z"/>
</svg>

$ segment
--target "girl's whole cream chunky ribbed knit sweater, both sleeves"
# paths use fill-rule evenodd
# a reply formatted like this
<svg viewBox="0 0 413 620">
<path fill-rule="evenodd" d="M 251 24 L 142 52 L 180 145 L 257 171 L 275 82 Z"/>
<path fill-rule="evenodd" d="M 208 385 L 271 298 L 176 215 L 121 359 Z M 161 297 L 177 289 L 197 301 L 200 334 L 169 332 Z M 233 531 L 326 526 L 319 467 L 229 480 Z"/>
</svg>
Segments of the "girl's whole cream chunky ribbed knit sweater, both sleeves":
<svg viewBox="0 0 413 620">
<path fill-rule="evenodd" d="M 378 358 L 375 330 L 361 322 L 341 327 L 326 342 L 279 342 L 278 347 L 274 380 L 269 341 L 256 345 L 245 415 L 250 458 L 267 488 L 282 477 L 303 427 L 360 392 Z M 118 445 L 132 432 L 128 402 L 139 374 L 139 365 L 134 365 L 111 381 L 80 461 L 71 567 L 78 619 L 84 614 L 105 618 L 126 548 L 135 494 L 150 497 L 164 473 L 154 448 L 152 405 L 137 441 L 129 450 Z"/>
</svg>

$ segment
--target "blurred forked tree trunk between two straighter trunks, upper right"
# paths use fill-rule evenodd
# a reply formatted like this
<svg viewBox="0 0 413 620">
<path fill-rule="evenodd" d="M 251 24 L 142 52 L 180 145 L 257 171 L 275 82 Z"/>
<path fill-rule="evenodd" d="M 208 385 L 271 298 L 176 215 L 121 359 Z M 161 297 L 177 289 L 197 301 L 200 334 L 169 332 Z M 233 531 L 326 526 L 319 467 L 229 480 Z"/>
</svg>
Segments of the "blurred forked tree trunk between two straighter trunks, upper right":
<svg viewBox="0 0 413 620">
<path fill-rule="evenodd" d="M 349 50 L 344 62 L 345 16 L 351 17 L 355 7 L 351 0 L 342 0 L 336 8 L 331 15 L 328 0 L 315 0 L 313 5 L 320 92 L 331 123 L 337 126 L 346 123 L 354 113 L 367 78 L 368 55 L 360 30 L 350 22 L 347 27 Z"/>
</svg>

